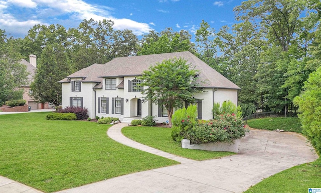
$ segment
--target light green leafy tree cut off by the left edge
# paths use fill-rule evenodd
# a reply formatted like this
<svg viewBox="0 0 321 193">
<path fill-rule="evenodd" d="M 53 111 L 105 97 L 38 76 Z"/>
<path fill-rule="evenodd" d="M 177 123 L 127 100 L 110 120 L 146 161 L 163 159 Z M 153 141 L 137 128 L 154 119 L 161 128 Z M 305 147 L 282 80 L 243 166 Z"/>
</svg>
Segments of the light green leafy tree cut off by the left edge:
<svg viewBox="0 0 321 193">
<path fill-rule="evenodd" d="M 7 38 L 4 30 L 0 30 L 0 106 L 6 101 L 23 98 L 28 81 L 27 66 L 20 63 L 22 57 L 17 50 L 15 40 Z"/>
</svg>

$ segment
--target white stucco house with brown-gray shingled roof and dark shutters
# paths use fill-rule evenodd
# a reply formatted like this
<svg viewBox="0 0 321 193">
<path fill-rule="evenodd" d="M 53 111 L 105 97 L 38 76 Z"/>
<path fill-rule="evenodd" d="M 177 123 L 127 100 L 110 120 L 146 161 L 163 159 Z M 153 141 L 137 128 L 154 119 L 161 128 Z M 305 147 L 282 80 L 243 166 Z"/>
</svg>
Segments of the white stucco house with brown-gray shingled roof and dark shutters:
<svg viewBox="0 0 321 193">
<path fill-rule="evenodd" d="M 212 119 L 214 103 L 231 101 L 237 104 L 240 87 L 186 51 L 115 58 L 106 64 L 93 64 L 81 69 L 59 81 L 62 83 L 62 106 L 87 108 L 90 118 L 118 117 L 129 122 L 133 117 L 151 115 L 156 116 L 159 123 L 166 122 L 167 111 L 151 101 L 142 100 L 143 95 L 136 84 L 140 83 L 137 77 L 150 65 L 175 57 L 184 58 L 200 70 L 199 80 L 203 82 L 204 92 L 194 95 L 199 119 Z"/>
</svg>

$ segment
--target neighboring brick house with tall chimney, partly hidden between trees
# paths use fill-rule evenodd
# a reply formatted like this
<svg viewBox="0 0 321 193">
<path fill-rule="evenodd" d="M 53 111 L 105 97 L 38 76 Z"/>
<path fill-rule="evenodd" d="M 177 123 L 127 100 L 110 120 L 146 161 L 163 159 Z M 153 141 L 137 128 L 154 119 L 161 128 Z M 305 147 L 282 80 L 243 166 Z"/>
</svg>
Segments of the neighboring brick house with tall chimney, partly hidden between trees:
<svg viewBox="0 0 321 193">
<path fill-rule="evenodd" d="M 21 87 L 25 89 L 24 91 L 24 95 L 23 95 L 23 99 L 26 100 L 26 104 L 31 107 L 32 110 L 35 109 L 48 109 L 48 103 L 38 103 L 38 101 L 35 101 L 34 99 L 31 98 L 31 96 L 29 95 L 29 93 L 31 92 L 30 89 L 30 84 L 32 81 L 34 81 L 34 75 L 37 69 L 37 56 L 31 54 L 29 56 L 29 61 L 27 62 L 25 59 L 21 60 L 21 64 L 24 64 L 27 66 L 27 70 L 29 72 L 28 75 L 28 83 L 27 85 L 22 85 Z"/>
</svg>

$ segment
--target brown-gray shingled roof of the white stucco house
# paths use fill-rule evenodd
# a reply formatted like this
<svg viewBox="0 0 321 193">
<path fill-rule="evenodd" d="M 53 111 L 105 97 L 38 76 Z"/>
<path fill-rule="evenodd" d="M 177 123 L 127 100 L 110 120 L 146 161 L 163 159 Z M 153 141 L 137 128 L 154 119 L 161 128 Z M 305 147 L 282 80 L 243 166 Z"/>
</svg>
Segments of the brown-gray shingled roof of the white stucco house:
<svg viewBox="0 0 321 193">
<path fill-rule="evenodd" d="M 100 82 L 103 77 L 139 76 L 149 66 L 175 57 L 184 58 L 187 63 L 191 63 L 193 67 L 195 66 L 196 69 L 200 70 L 199 78 L 203 82 L 202 87 L 240 89 L 236 84 L 188 51 L 115 58 L 103 65 L 93 64 L 67 77 L 86 77 L 83 81 L 96 80 Z M 60 82 L 63 82 L 63 80 Z"/>
</svg>

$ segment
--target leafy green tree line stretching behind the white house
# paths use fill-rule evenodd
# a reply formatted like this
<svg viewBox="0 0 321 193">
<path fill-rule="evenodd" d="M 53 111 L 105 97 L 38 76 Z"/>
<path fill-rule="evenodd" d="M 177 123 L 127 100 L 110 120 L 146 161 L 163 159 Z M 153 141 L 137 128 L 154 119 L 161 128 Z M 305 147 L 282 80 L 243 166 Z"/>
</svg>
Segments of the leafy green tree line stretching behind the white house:
<svg viewBox="0 0 321 193">
<path fill-rule="evenodd" d="M 2 31 L 0 38 L 6 49 L 14 49 L 15 61 L 37 55 L 32 90 L 41 102 L 61 104 L 61 85 L 56 82 L 93 63 L 190 51 L 242 88 L 239 105 L 245 115 L 257 109 L 286 115 L 297 110 L 293 99 L 320 66 L 320 7 L 314 0 L 248 0 L 234 8 L 238 23 L 215 30 L 202 21 L 193 41 L 186 30 L 168 28 L 137 37 L 130 30 L 114 30 L 110 20 L 92 19 L 70 29 L 36 25 L 23 39 L 7 38 Z"/>
</svg>

